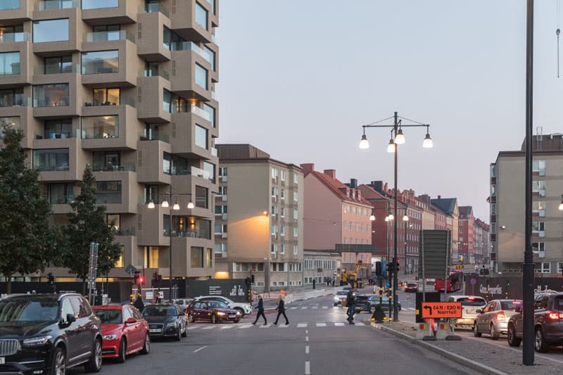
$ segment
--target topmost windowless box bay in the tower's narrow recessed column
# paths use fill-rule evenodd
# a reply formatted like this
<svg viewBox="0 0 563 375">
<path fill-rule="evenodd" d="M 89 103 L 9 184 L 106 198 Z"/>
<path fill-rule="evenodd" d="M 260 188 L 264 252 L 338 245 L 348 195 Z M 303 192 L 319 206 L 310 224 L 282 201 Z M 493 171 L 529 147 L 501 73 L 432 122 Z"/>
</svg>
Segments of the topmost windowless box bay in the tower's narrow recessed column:
<svg viewBox="0 0 563 375">
<path fill-rule="evenodd" d="M 183 3 L 184 1 L 177 2 Z M 146 61 L 170 60 L 170 51 L 164 45 L 163 30 L 165 26 L 170 28 L 170 19 L 163 13 L 139 13 L 137 53 Z"/>
</svg>

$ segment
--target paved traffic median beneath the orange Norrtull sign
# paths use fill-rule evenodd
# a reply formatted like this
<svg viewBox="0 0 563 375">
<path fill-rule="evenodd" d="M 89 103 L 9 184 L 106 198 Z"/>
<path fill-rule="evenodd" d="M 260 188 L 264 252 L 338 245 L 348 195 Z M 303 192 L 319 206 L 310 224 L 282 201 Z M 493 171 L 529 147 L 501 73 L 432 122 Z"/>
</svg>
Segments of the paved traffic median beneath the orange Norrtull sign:
<svg viewBox="0 0 563 375">
<path fill-rule="evenodd" d="M 386 322 L 372 323 L 372 326 L 483 374 L 560 374 L 561 371 L 562 364 L 559 360 L 547 360 L 545 357 L 538 357 L 536 353 L 534 366 L 524 366 L 520 349 L 483 343 L 480 339 L 463 337 L 461 341 L 417 340 L 415 323 Z"/>
</svg>

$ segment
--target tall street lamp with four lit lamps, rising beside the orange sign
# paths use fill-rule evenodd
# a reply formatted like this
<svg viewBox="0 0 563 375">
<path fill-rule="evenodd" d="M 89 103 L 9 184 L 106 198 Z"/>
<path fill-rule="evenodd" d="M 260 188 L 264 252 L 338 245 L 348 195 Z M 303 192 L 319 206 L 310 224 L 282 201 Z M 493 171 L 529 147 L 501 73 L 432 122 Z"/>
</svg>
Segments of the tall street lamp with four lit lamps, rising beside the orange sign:
<svg viewBox="0 0 563 375">
<path fill-rule="evenodd" d="M 393 118 L 393 125 L 382 125 L 381 122 L 390 120 L 391 118 Z M 403 120 L 405 121 L 409 121 L 409 122 L 414 122 L 412 124 L 403 124 Z M 430 125 L 427 124 L 423 124 L 422 122 L 417 122 L 417 121 L 413 121 L 413 120 L 409 120 L 405 117 L 400 117 L 399 120 L 399 116 L 397 115 L 397 113 L 394 113 L 394 115 L 392 117 L 387 117 L 383 120 L 379 120 L 376 122 L 372 122 L 371 124 L 368 125 L 362 125 L 362 128 L 364 130 L 364 134 L 362 135 L 362 139 L 360 140 L 360 148 L 369 148 L 369 142 L 367 141 L 367 137 L 365 135 L 365 128 L 367 127 L 391 127 L 391 140 L 389 141 L 389 144 L 387 146 L 387 151 L 388 152 L 393 152 L 395 153 L 395 172 L 394 172 L 394 184 L 395 186 L 393 187 L 393 203 L 394 203 L 394 207 L 393 207 L 393 211 L 394 211 L 394 217 L 397 217 L 397 196 L 398 196 L 398 189 L 397 189 L 397 153 L 398 153 L 398 145 L 399 144 L 404 144 L 405 143 L 405 135 L 403 134 L 403 127 L 426 127 L 426 136 L 424 137 L 424 142 L 422 143 L 422 147 L 424 148 L 431 148 L 433 146 L 432 144 L 432 139 L 430 138 L 430 133 L 429 133 L 429 127 Z M 394 220 L 393 221 L 393 237 L 395 239 L 395 241 L 393 242 L 393 262 L 396 262 L 397 260 L 397 225 L 398 225 L 398 220 Z M 397 287 L 398 287 L 398 278 L 397 278 L 397 272 L 393 272 L 393 320 L 398 321 L 399 319 L 399 312 L 397 311 Z"/>
</svg>

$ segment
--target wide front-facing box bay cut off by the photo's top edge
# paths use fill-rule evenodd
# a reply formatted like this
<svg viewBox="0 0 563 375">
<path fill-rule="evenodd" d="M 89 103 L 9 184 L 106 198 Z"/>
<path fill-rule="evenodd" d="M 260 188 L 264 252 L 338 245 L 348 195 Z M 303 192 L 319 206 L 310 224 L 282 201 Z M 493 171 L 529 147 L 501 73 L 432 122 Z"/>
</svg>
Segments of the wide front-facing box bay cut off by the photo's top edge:
<svg viewBox="0 0 563 375">
<path fill-rule="evenodd" d="M 136 5 L 130 0 L 82 0 L 82 20 L 90 25 L 135 23 Z"/>
</svg>

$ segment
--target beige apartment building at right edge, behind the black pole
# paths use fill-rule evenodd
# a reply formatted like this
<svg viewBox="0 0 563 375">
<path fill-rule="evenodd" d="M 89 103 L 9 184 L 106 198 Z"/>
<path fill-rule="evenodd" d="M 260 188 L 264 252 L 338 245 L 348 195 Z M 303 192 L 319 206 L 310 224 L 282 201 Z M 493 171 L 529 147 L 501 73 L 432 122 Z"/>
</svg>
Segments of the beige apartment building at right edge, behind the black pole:
<svg viewBox="0 0 563 375">
<path fill-rule="evenodd" d="M 563 274 L 563 135 L 536 135 L 533 148 L 532 249 L 536 272 Z M 519 151 L 500 151 L 491 164 L 491 266 L 520 273 L 524 263 L 525 140 Z"/>
</svg>

